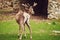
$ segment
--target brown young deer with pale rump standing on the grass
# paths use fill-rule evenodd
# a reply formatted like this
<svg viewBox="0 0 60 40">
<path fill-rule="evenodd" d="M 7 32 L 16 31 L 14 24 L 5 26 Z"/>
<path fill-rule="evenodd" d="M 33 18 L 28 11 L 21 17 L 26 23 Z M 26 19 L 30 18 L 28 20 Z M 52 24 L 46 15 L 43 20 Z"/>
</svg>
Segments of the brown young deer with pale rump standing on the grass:
<svg viewBox="0 0 60 40">
<path fill-rule="evenodd" d="M 19 10 L 19 12 L 16 14 L 16 21 L 19 24 L 19 39 L 22 40 L 23 34 L 25 34 L 25 24 L 28 26 L 28 29 L 30 31 L 30 39 L 32 40 L 32 30 L 29 24 L 30 14 L 34 14 L 33 7 L 36 6 L 37 3 L 34 3 L 33 6 L 30 6 L 29 4 L 22 4 L 24 6 L 24 11 Z"/>
</svg>

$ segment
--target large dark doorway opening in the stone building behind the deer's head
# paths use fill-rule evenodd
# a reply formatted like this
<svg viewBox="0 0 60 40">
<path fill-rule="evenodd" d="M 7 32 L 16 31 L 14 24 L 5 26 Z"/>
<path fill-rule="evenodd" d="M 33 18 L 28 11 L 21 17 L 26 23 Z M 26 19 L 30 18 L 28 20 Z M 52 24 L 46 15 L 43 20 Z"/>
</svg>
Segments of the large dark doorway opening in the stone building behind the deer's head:
<svg viewBox="0 0 60 40">
<path fill-rule="evenodd" d="M 33 5 L 34 2 L 38 4 L 36 7 L 34 7 L 34 15 L 47 18 L 48 0 L 22 0 L 22 3 L 29 3 L 30 5 Z"/>
</svg>

